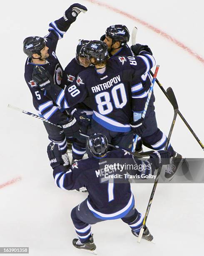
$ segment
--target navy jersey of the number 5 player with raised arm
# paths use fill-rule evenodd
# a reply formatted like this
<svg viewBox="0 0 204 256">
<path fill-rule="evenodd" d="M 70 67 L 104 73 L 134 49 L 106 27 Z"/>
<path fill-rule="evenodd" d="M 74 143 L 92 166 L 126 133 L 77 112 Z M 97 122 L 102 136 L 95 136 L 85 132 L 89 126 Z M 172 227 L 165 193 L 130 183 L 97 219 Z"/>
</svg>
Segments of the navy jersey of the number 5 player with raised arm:
<svg viewBox="0 0 204 256">
<path fill-rule="evenodd" d="M 63 37 L 64 33 L 74 21 L 75 19 L 65 21 L 64 18 L 60 18 L 59 20 L 51 22 L 48 29 L 49 33 L 44 37 L 46 46 L 49 48 L 49 57 L 47 58 L 46 63 L 41 66 L 50 72 L 51 76 L 54 78 L 55 84 L 60 86 L 61 89 L 64 88 L 62 83 L 63 69 L 60 61 L 57 59 L 55 51 L 58 40 Z M 32 80 L 32 72 L 35 65 L 36 64 L 32 63 L 31 59 L 28 57 L 25 62 L 24 77 L 30 92 L 32 93 L 33 105 L 40 116 L 57 124 L 60 120 L 62 121 L 63 119 L 66 119 L 67 116 L 64 113 L 64 109 L 57 106 L 55 101 L 53 101 L 52 96 L 49 95 L 49 91 L 45 90 L 42 92 L 34 87 L 36 83 Z"/>
</svg>

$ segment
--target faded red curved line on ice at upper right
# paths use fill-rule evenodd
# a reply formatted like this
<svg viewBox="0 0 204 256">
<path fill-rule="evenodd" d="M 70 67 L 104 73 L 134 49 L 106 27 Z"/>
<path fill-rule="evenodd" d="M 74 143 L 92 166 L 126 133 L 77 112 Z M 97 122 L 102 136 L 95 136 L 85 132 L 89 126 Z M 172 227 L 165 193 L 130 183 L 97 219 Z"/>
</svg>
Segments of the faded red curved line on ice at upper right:
<svg viewBox="0 0 204 256">
<path fill-rule="evenodd" d="M 115 13 L 119 13 L 121 15 L 124 15 L 126 16 L 127 18 L 130 18 L 132 20 L 135 20 L 137 21 L 138 23 L 144 25 L 145 27 L 151 29 L 152 31 L 154 31 L 155 33 L 159 34 L 160 36 L 163 36 L 164 38 L 167 38 L 169 41 L 172 41 L 172 43 L 176 44 L 177 46 L 179 46 L 180 48 L 184 49 L 185 51 L 187 51 L 189 54 L 191 54 L 192 56 L 194 56 L 196 59 L 198 59 L 200 62 L 202 62 L 202 64 L 204 64 L 204 58 L 202 58 L 201 56 L 199 56 L 199 54 L 197 54 L 196 52 L 194 52 L 192 49 L 190 49 L 189 47 L 185 46 L 183 43 L 179 42 L 176 38 L 172 37 L 172 36 L 169 36 L 167 33 L 165 33 L 164 31 L 162 31 L 161 29 L 159 28 L 156 28 L 154 26 L 152 26 L 151 24 L 147 23 L 146 21 L 144 20 L 141 20 L 139 18 L 136 18 L 135 16 L 129 14 L 129 13 L 125 13 L 124 11 L 122 10 L 119 10 L 115 7 L 112 7 L 106 3 L 100 3 L 99 1 L 96 1 L 96 0 L 85 0 L 87 2 L 90 2 L 90 3 L 94 3 L 94 4 L 97 4 L 97 5 L 100 5 L 102 7 L 105 7 L 109 10 L 112 10 L 114 11 Z"/>
</svg>

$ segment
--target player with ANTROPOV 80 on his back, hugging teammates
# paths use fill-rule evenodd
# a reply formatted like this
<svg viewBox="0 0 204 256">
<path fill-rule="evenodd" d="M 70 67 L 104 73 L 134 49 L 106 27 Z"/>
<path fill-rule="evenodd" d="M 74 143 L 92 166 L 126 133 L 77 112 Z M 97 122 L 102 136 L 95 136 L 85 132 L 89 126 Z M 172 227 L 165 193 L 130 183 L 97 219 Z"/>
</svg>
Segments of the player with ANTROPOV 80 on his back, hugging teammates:
<svg viewBox="0 0 204 256">
<path fill-rule="evenodd" d="M 132 79 L 147 74 L 155 65 L 154 57 L 143 51 L 141 56 L 128 57 L 130 59 L 113 57 L 107 60 L 107 46 L 102 41 L 90 41 L 85 46 L 85 56 L 95 69 L 81 72 L 65 91 L 54 87 L 56 91 L 52 97 L 55 97 L 57 105 L 65 108 L 84 102 L 94 112 L 88 133 L 100 132 L 109 143 L 129 148 L 133 137 L 129 124 L 132 117 Z M 68 122 L 67 125 L 71 126 Z"/>
</svg>

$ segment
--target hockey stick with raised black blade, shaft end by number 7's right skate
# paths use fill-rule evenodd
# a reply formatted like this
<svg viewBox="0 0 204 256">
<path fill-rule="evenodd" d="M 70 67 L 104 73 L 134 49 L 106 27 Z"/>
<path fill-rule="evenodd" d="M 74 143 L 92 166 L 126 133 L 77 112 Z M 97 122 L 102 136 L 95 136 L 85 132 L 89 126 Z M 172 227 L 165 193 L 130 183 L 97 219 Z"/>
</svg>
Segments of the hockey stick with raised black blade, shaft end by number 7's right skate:
<svg viewBox="0 0 204 256">
<path fill-rule="evenodd" d="M 172 120 L 172 125 L 171 125 L 171 128 L 169 130 L 169 135 L 168 135 L 167 143 L 166 143 L 166 146 L 165 146 L 164 150 L 167 150 L 167 148 L 169 146 L 169 141 L 170 141 L 170 138 L 172 136 L 172 131 L 173 131 L 174 124 L 175 124 L 175 121 L 176 121 L 176 118 L 177 118 L 177 114 L 179 112 L 179 107 L 178 107 L 178 104 L 177 104 L 177 100 L 176 100 L 176 97 L 175 97 L 174 92 L 173 92 L 171 87 L 169 87 L 167 89 L 167 95 L 169 97 L 169 100 L 170 100 L 173 108 L 174 108 L 174 118 Z M 142 228 L 139 232 L 138 241 L 137 241 L 138 243 L 140 243 L 140 241 L 142 239 L 142 234 L 144 232 L 144 226 L 146 225 L 146 222 L 147 222 L 147 217 L 149 215 L 149 210 L 150 210 L 150 207 L 152 205 L 152 200 L 153 200 L 153 197 L 154 197 L 154 193 L 155 193 L 155 190 L 156 190 L 156 187 L 157 187 L 157 183 L 158 183 L 158 180 L 159 180 L 159 174 L 160 174 L 161 170 L 162 170 L 162 166 L 160 166 L 158 171 L 157 171 L 157 176 L 156 176 L 155 181 L 154 181 L 154 186 L 152 188 L 152 193 L 151 193 L 150 198 L 149 198 L 149 202 L 148 202 L 148 205 L 147 205 L 147 210 L 146 210 L 145 215 L 144 215 Z"/>
</svg>

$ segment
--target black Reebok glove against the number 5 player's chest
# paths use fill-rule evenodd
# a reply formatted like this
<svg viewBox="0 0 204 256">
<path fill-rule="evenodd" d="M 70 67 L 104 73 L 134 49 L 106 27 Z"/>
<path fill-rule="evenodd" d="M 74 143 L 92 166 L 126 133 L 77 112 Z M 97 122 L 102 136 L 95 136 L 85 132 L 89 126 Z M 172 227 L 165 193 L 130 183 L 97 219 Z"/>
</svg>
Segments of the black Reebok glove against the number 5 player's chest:
<svg viewBox="0 0 204 256">
<path fill-rule="evenodd" d="M 49 71 L 45 70 L 41 66 L 35 66 L 32 72 L 32 80 L 36 82 L 37 87 L 41 90 L 50 90 L 54 84 L 54 80 Z"/>
</svg>

